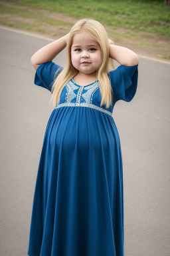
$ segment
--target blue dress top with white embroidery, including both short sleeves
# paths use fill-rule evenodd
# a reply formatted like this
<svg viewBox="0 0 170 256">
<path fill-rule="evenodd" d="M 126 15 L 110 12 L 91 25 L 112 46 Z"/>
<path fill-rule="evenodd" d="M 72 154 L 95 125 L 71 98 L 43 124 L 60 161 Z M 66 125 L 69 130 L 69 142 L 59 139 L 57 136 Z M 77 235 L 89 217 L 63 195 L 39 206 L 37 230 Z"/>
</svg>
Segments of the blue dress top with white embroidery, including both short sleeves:
<svg viewBox="0 0 170 256">
<path fill-rule="evenodd" d="M 76 84 L 74 79 L 70 79 L 70 81 L 64 85 L 60 94 L 60 101 L 54 108 L 64 106 L 92 107 L 112 115 L 116 101 L 121 99 L 129 102 L 133 99 L 137 89 L 137 66 L 138 65 L 126 67 L 120 65 L 117 69 L 108 73 L 112 87 L 112 104 L 110 107 L 106 108 L 106 104 L 100 106 L 102 95 L 100 93 L 98 80 L 90 85 L 82 86 Z M 63 67 L 60 67 L 52 61 L 42 63 L 35 73 L 35 84 L 52 92 L 52 84 L 62 69 Z"/>
</svg>

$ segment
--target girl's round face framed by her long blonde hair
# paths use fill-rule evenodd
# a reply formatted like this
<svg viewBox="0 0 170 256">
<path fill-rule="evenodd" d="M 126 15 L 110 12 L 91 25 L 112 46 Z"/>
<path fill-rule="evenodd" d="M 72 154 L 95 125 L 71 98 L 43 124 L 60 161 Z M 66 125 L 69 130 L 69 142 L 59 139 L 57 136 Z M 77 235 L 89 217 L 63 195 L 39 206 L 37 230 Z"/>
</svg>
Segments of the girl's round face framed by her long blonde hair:
<svg viewBox="0 0 170 256">
<path fill-rule="evenodd" d="M 87 75 L 96 73 L 102 61 L 100 45 L 85 31 L 77 33 L 72 41 L 71 60 L 79 73 Z"/>
</svg>

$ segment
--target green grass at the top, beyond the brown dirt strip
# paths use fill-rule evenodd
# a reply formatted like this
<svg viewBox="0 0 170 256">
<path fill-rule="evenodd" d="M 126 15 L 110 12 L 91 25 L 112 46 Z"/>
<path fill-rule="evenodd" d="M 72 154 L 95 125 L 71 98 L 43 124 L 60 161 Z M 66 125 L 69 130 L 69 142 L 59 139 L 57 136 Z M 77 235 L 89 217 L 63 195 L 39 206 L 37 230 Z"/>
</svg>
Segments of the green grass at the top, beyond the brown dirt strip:
<svg viewBox="0 0 170 256">
<path fill-rule="evenodd" d="M 92 17 L 114 29 L 125 28 L 170 37 L 170 6 L 161 1 L 8 0 L 8 3 L 67 13 L 76 18 Z"/>
</svg>

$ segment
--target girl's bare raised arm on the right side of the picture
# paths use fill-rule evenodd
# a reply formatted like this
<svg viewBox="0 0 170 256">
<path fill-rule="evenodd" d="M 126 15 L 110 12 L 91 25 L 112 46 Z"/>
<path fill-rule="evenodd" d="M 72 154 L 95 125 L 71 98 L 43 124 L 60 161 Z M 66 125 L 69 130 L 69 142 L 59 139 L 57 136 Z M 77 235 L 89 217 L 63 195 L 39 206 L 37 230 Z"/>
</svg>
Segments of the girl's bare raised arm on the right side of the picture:
<svg viewBox="0 0 170 256">
<path fill-rule="evenodd" d="M 109 40 L 109 53 L 112 59 L 115 59 L 124 66 L 134 66 L 139 63 L 139 58 L 136 53 L 129 50 L 126 47 L 114 45 L 114 43 Z"/>
</svg>

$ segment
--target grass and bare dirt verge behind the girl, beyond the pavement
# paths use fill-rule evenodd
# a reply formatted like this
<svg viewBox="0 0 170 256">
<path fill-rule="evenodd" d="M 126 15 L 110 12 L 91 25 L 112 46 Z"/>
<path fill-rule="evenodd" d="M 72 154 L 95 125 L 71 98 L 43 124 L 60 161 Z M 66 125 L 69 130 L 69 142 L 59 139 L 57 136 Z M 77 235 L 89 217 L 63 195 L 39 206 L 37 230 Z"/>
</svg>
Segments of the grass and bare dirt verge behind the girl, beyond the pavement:
<svg viewBox="0 0 170 256">
<path fill-rule="evenodd" d="M 151 0 L 0 0 L 0 24 L 57 39 L 79 18 L 92 17 L 104 24 L 116 44 L 170 61 L 169 9 Z"/>
</svg>

